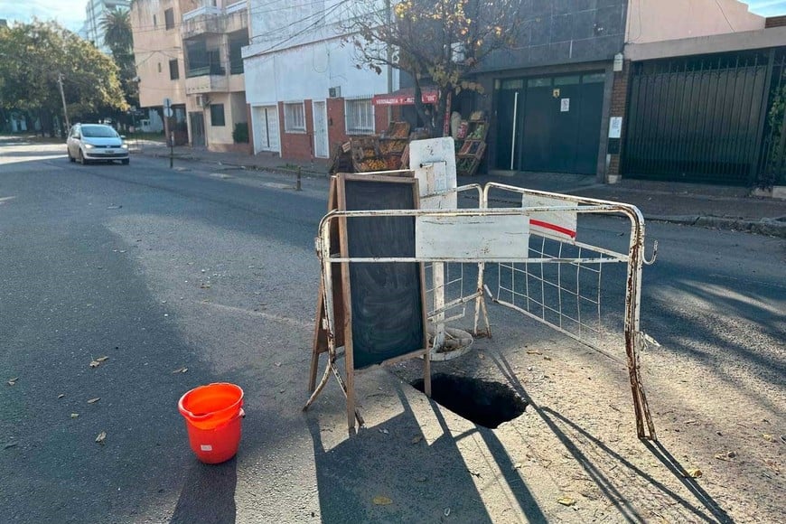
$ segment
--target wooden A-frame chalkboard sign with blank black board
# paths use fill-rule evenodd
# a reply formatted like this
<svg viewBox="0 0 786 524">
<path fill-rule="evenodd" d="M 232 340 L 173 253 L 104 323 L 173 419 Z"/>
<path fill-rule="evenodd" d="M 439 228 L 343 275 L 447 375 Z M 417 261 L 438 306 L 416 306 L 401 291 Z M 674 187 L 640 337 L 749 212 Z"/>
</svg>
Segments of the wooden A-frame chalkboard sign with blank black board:
<svg viewBox="0 0 786 524">
<path fill-rule="evenodd" d="M 411 172 L 339 173 L 331 180 L 328 208 L 339 211 L 414 210 L 419 206 L 418 195 L 417 180 Z M 331 254 L 340 252 L 342 258 L 415 257 L 415 217 L 351 220 L 342 217 L 333 222 L 337 224 L 330 226 Z M 424 389 L 430 396 L 431 360 L 426 331 L 423 264 L 342 262 L 341 271 L 332 272 L 334 333 L 327 332 L 323 278 L 313 333 L 309 378 L 312 395 L 304 410 L 319 395 L 332 372 L 347 398 L 347 423 L 352 432 L 355 419 L 360 426 L 363 424 L 362 416 L 355 407 L 355 370 L 418 357 L 424 360 Z M 386 283 L 387 287 L 380 283 Z M 353 308 L 356 304 L 364 307 Z M 385 320 L 382 327 L 380 318 Z M 341 345 L 344 347 L 346 379 L 336 366 Z M 319 357 L 323 352 L 329 354 L 328 366 L 323 379 L 316 385 Z"/>
</svg>

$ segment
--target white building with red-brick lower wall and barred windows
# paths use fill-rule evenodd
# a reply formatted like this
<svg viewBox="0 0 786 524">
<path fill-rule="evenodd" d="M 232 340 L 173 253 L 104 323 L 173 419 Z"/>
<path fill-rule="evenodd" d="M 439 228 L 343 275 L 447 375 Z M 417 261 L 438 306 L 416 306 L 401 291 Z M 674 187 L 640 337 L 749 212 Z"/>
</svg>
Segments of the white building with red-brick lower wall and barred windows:
<svg viewBox="0 0 786 524">
<path fill-rule="evenodd" d="M 286 7 L 249 0 L 249 45 L 243 48 L 246 98 L 254 153 L 326 159 L 349 136 L 373 135 L 388 125 L 375 113 L 374 94 L 388 76 L 355 67 L 342 45 L 345 0 L 293 0 Z M 392 71 L 393 89 L 398 71 Z"/>
</svg>

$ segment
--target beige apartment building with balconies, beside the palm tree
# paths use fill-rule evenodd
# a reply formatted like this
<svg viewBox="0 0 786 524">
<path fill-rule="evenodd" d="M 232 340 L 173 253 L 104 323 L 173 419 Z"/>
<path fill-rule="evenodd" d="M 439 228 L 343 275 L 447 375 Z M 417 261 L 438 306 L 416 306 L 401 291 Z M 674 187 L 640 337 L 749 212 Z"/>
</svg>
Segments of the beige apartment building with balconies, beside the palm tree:
<svg viewBox="0 0 786 524">
<path fill-rule="evenodd" d="M 136 0 L 132 27 L 140 104 L 173 108 L 178 144 L 248 150 L 245 75 L 248 4 L 223 0 Z"/>
</svg>

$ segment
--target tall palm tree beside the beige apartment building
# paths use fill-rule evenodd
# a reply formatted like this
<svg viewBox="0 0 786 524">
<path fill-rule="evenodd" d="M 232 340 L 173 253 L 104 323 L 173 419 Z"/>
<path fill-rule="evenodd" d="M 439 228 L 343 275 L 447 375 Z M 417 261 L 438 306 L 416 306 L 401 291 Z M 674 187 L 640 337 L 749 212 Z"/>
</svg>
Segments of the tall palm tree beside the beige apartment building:
<svg viewBox="0 0 786 524">
<path fill-rule="evenodd" d="M 138 106 L 139 88 L 134 81 L 136 64 L 130 12 L 118 7 L 109 10 L 101 19 L 101 31 L 104 33 L 104 43 L 112 51 L 112 58 L 120 70 L 120 85 L 126 94 L 126 102 Z"/>
</svg>

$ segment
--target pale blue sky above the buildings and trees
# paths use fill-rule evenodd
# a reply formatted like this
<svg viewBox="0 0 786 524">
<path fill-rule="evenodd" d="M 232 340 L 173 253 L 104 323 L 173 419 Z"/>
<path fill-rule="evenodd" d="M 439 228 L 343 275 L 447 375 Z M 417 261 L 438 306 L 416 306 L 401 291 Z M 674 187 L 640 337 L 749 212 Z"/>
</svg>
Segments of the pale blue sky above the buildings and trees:
<svg viewBox="0 0 786 524">
<path fill-rule="evenodd" d="M 786 0 L 748 0 L 751 12 L 763 16 L 786 14 Z M 30 22 L 33 16 L 55 19 L 71 31 L 79 31 L 85 21 L 87 0 L 0 0 L 0 18 Z"/>
</svg>

